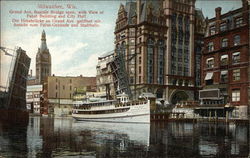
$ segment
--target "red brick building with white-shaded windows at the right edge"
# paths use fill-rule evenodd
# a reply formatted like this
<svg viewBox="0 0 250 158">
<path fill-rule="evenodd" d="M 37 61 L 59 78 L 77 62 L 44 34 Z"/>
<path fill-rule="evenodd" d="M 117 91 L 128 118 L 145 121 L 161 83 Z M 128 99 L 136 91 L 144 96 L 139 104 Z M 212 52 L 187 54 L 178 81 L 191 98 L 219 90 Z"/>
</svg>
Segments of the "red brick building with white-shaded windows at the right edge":
<svg viewBox="0 0 250 158">
<path fill-rule="evenodd" d="M 202 55 L 202 86 L 205 91 L 218 90 L 217 100 L 205 104 L 227 104 L 239 112 L 249 105 L 249 4 L 207 21 Z M 212 102 L 212 103 L 211 103 Z"/>
</svg>

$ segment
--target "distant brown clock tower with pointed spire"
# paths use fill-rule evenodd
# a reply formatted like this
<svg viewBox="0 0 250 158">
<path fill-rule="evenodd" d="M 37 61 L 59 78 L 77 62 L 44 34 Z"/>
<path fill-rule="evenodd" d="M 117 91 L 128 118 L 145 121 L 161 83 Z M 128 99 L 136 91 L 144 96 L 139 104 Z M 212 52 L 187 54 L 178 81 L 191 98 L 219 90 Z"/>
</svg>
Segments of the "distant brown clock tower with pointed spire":
<svg viewBox="0 0 250 158">
<path fill-rule="evenodd" d="M 36 82 L 43 84 L 46 77 L 51 76 L 51 56 L 46 44 L 46 34 L 43 30 L 41 37 L 41 46 L 36 54 Z"/>
</svg>

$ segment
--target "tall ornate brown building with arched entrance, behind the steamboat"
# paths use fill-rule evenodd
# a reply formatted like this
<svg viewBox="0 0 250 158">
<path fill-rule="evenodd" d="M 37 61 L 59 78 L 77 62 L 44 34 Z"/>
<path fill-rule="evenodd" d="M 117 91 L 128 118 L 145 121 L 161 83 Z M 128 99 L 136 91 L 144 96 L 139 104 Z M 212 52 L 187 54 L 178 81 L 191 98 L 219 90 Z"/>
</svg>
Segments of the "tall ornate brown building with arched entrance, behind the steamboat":
<svg viewBox="0 0 250 158">
<path fill-rule="evenodd" d="M 193 100 L 195 1 L 137 0 L 121 4 L 115 55 L 123 54 L 133 96 Z"/>
</svg>

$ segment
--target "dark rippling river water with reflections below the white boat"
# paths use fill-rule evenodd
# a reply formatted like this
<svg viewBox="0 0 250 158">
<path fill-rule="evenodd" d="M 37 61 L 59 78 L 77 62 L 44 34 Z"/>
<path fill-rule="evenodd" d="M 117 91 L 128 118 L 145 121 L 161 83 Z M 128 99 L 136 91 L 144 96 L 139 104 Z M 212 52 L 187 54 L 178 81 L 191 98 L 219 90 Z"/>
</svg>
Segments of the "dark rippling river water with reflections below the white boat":
<svg viewBox="0 0 250 158">
<path fill-rule="evenodd" d="M 99 123 L 30 117 L 0 127 L 0 157 L 248 157 L 248 125 Z"/>
</svg>

